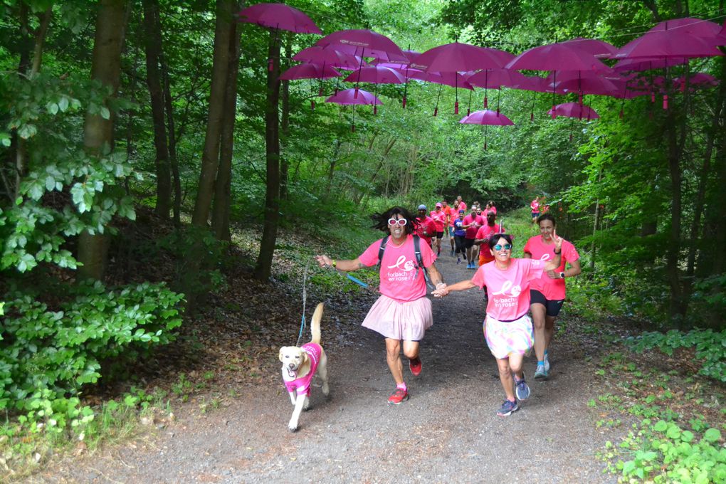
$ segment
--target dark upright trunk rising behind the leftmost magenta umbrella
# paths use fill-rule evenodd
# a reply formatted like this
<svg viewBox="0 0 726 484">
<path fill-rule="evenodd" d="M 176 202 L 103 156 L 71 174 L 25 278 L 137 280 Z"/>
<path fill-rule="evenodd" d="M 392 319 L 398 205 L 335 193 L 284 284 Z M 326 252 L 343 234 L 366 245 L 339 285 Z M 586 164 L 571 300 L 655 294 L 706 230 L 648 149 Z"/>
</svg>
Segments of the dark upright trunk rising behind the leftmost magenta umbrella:
<svg viewBox="0 0 726 484">
<path fill-rule="evenodd" d="M 280 218 L 280 37 L 270 29 L 267 59 L 267 103 L 265 109 L 265 144 L 267 181 L 265 194 L 265 220 L 257 258 L 255 278 L 266 281 L 272 274 L 272 255 L 277 240 Z"/>
</svg>

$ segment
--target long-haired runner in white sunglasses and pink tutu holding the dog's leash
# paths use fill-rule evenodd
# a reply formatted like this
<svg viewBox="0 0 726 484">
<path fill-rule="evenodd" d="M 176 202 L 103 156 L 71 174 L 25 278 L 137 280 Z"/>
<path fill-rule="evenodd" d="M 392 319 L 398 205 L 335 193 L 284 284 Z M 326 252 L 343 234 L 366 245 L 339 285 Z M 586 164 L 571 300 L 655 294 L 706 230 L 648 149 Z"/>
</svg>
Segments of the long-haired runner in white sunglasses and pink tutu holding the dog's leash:
<svg viewBox="0 0 726 484">
<path fill-rule="evenodd" d="M 418 376 L 422 367 L 419 343 L 426 329 L 433 324 L 433 315 L 431 300 L 426 298 L 423 268 L 418 265 L 415 255 L 413 234 L 417 222 L 414 216 L 405 208 L 393 207 L 373 218 L 376 221 L 373 228 L 385 231 L 390 236 L 380 260 L 378 255 L 383 239 L 373 242 L 352 261 L 336 261 L 327 255 L 316 255 L 315 258 L 319 266 L 340 271 L 356 271 L 379 264 L 380 298 L 368 311 L 363 326 L 386 338 L 386 361 L 396 381 L 396 390 L 388 397 L 388 403 L 397 405 L 408 400 L 401 364 L 401 344 L 404 355 L 409 358 L 411 373 Z M 444 287 L 444 279 L 434 264 L 436 254 L 423 241 L 419 249 L 421 262 L 428 269 L 431 282 L 436 287 Z"/>
</svg>

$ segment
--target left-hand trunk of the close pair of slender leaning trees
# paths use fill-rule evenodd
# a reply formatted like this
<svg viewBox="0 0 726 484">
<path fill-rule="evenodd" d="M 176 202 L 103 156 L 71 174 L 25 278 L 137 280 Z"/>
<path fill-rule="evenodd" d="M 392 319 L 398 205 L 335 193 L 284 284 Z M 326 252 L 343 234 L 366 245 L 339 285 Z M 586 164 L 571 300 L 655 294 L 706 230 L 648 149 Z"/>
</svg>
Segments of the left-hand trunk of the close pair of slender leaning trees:
<svg viewBox="0 0 726 484">
<path fill-rule="evenodd" d="M 216 1 L 216 27 L 214 30 L 214 54 L 212 81 L 209 95 L 207 131 L 202 154 L 202 170 L 197 188 L 192 223 L 207 226 L 209 208 L 212 205 L 214 182 L 219 165 L 219 142 L 224 115 L 224 94 L 227 91 L 227 70 L 229 69 L 229 23 L 233 22 L 233 0 Z"/>
</svg>

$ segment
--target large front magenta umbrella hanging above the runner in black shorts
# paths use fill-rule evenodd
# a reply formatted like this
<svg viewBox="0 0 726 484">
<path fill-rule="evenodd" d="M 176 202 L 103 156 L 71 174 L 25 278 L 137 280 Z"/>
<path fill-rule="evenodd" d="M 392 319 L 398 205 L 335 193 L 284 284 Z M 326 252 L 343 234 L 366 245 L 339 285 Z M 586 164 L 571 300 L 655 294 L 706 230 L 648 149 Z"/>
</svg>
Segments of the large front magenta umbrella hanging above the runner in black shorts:
<svg viewBox="0 0 726 484">
<path fill-rule="evenodd" d="M 567 44 L 548 44 L 534 47 L 519 54 L 507 64 L 507 69 L 552 70 L 557 82 L 558 70 L 593 70 L 608 72 L 610 67 L 597 60 L 590 52 Z M 552 89 L 552 118 L 555 118 L 555 90 Z"/>
</svg>

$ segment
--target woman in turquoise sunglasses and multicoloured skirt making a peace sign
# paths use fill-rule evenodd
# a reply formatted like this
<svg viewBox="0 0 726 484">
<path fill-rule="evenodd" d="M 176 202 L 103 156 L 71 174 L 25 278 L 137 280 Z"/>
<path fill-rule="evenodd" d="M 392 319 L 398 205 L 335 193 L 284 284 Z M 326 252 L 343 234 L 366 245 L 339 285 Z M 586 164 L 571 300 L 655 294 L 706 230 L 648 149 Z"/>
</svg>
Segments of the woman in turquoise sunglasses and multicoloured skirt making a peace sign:
<svg viewBox="0 0 726 484">
<path fill-rule="evenodd" d="M 489 237 L 489 250 L 494 261 L 477 269 L 473 278 L 451 286 L 444 284 L 433 291 L 435 297 L 443 297 L 451 291 L 481 289 L 486 286 L 489 303 L 484 319 L 484 338 L 499 367 L 499 381 L 502 382 L 506 400 L 497 410 L 497 415 L 506 417 L 519 409 L 517 400 L 529 398 L 529 386 L 524 380 L 522 363 L 533 343 L 532 321 L 529 311 L 529 284 L 538 279 L 542 271 L 555 268 L 560 263 L 562 239 L 555 235 L 555 258 L 544 263 L 534 259 L 512 258 L 512 237 L 495 234 Z M 515 396 L 516 395 L 516 396 Z"/>
</svg>

